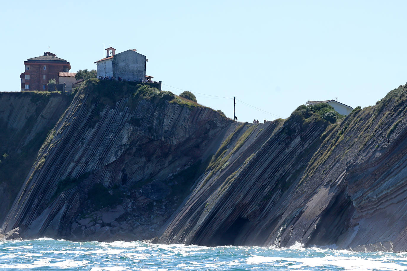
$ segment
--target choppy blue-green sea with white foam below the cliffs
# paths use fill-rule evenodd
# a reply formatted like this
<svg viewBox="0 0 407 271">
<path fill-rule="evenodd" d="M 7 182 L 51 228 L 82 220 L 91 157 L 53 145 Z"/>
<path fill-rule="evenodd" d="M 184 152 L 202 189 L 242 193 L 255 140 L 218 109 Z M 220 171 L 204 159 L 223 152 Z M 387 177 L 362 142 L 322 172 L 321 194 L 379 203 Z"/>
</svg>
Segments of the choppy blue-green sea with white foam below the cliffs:
<svg viewBox="0 0 407 271">
<path fill-rule="evenodd" d="M 407 253 L 135 242 L 0 241 L 1 270 L 406 270 Z"/>
</svg>

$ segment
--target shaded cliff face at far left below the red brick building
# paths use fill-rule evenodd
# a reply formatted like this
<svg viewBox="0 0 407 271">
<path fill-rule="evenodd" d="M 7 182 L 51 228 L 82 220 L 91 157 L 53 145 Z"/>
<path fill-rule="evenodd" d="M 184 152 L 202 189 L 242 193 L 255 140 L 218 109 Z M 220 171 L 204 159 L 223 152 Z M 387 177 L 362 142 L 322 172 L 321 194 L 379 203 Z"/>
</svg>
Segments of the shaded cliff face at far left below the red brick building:
<svg viewBox="0 0 407 271">
<path fill-rule="evenodd" d="M 59 93 L 0 93 L 0 222 L 50 130 L 72 98 Z"/>
</svg>

